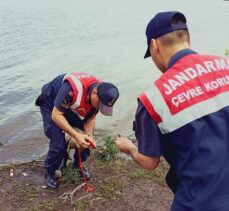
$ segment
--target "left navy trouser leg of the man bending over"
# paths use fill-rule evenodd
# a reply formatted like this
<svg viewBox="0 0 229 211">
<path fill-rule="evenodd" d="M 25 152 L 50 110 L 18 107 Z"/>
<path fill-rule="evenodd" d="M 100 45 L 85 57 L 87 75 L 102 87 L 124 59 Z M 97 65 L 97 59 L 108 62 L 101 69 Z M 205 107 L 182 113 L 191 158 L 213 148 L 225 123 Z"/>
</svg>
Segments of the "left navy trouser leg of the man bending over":
<svg viewBox="0 0 229 211">
<path fill-rule="evenodd" d="M 44 133 L 49 138 L 49 150 L 44 167 L 49 174 L 55 174 L 55 170 L 59 169 L 62 160 L 66 154 L 66 141 L 64 133 L 57 127 L 51 119 L 51 110 L 47 107 L 41 107 L 43 117 Z"/>
</svg>

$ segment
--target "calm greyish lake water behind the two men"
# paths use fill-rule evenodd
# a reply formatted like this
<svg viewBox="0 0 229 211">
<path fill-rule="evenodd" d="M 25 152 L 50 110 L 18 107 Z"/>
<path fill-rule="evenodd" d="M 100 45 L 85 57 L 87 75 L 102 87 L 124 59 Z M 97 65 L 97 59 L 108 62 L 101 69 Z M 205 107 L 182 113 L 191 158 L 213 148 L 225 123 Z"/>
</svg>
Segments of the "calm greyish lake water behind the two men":
<svg viewBox="0 0 229 211">
<path fill-rule="evenodd" d="M 85 71 L 116 84 L 114 116 L 98 115 L 96 135 L 132 135 L 137 96 L 159 75 L 146 50 L 145 27 L 159 11 L 186 14 L 192 48 L 223 55 L 229 2 L 223 0 L 1 0 L 0 164 L 47 151 L 34 100 L 55 76 Z"/>
</svg>

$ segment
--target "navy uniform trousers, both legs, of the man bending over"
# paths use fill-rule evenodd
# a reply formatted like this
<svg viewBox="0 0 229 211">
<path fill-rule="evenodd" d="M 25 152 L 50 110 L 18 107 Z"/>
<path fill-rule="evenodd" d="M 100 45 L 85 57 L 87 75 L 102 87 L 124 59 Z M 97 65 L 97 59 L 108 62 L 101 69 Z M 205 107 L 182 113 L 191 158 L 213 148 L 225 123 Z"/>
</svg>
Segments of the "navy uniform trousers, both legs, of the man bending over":
<svg viewBox="0 0 229 211">
<path fill-rule="evenodd" d="M 49 174 L 53 175 L 55 173 L 55 170 L 59 169 L 59 167 L 61 166 L 63 158 L 67 153 L 67 143 L 65 141 L 64 132 L 52 121 L 52 109 L 44 104 L 40 106 L 40 110 L 43 118 L 44 133 L 50 140 L 48 155 L 45 160 L 44 167 Z M 66 112 L 64 116 L 72 127 L 77 127 L 81 130 L 84 130 L 83 125 L 85 121 L 82 121 L 71 110 Z M 86 161 L 89 155 L 90 150 L 84 149 L 81 152 L 82 162 Z M 75 152 L 74 162 L 78 166 L 78 151 Z"/>
</svg>

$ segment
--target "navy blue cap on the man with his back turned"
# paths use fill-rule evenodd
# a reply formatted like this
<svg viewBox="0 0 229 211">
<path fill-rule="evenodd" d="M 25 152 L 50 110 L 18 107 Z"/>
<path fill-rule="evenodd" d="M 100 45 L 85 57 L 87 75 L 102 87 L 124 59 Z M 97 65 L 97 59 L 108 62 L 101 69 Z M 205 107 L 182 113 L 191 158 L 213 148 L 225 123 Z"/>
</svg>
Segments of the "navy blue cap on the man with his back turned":
<svg viewBox="0 0 229 211">
<path fill-rule="evenodd" d="M 177 16 L 183 23 L 172 24 L 173 18 Z M 152 39 L 157 39 L 165 34 L 176 30 L 188 30 L 186 25 L 186 18 L 184 14 L 177 11 L 170 12 L 160 12 L 156 14 L 148 23 L 146 27 L 146 37 L 147 37 L 147 51 L 144 58 L 150 57 L 150 43 Z"/>
</svg>

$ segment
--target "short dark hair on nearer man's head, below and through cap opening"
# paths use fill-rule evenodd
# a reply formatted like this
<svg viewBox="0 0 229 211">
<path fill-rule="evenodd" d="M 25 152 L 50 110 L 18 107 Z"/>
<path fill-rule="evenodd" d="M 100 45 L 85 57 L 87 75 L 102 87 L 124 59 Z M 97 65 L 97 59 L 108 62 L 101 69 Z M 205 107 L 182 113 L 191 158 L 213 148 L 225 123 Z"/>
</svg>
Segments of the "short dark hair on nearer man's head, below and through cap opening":
<svg viewBox="0 0 229 211">
<path fill-rule="evenodd" d="M 172 25 L 185 23 L 185 19 L 180 15 L 174 15 L 171 23 Z M 172 46 L 178 43 L 189 42 L 190 35 L 188 30 L 181 29 L 165 34 L 158 39 L 161 41 L 162 45 Z"/>
</svg>

